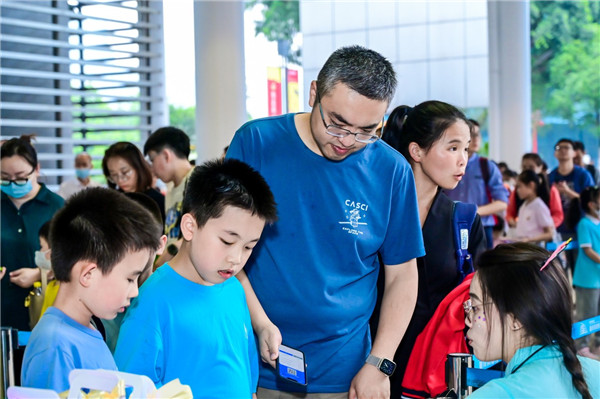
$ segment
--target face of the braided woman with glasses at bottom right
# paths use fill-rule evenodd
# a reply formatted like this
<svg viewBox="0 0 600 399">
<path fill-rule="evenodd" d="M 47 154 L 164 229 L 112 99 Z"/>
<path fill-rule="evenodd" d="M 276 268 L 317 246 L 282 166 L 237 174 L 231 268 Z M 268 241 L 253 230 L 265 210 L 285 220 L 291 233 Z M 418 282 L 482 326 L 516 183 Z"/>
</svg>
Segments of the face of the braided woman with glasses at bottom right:
<svg viewBox="0 0 600 399">
<path fill-rule="evenodd" d="M 477 273 L 471 281 L 469 296 L 472 308 L 469 311 L 468 306 L 465 306 L 465 324 L 469 327 L 467 340 L 473 353 L 481 361 L 504 359 L 504 334 L 500 314 L 493 303 L 482 302 L 481 283 Z"/>
</svg>

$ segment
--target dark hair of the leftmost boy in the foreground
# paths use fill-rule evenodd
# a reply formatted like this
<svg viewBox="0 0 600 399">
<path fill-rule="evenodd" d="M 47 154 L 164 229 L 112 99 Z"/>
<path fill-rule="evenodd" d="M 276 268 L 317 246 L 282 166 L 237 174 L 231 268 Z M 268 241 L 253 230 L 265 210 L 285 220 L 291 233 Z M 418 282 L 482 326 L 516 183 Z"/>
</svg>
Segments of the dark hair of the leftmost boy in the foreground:
<svg viewBox="0 0 600 399">
<path fill-rule="evenodd" d="M 118 191 L 95 187 L 73 195 L 52 219 L 50 248 L 58 281 L 68 282 L 79 261 L 108 274 L 128 252 L 156 251 L 161 226 L 137 202 Z"/>
</svg>

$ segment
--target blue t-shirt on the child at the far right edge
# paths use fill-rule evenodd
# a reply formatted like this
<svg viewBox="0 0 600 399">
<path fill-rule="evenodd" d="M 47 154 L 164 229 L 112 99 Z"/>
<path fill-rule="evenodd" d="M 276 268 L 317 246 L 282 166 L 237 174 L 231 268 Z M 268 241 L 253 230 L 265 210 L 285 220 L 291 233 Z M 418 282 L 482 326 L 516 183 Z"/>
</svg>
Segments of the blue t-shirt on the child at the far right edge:
<svg viewBox="0 0 600 399">
<path fill-rule="evenodd" d="M 582 288 L 600 288 L 600 263 L 594 262 L 584 252 L 592 248 L 600 253 L 600 220 L 585 216 L 577 225 L 579 254 L 575 263 L 573 285 Z"/>
</svg>

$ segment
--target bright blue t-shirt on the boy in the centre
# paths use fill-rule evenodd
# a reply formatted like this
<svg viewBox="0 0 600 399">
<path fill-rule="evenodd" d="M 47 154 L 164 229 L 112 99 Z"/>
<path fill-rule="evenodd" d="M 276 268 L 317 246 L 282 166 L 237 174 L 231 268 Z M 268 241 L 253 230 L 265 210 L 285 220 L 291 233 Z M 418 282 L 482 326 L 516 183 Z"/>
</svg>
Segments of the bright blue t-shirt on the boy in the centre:
<svg viewBox="0 0 600 399">
<path fill-rule="evenodd" d="M 125 315 L 115 360 L 157 387 L 179 378 L 194 398 L 251 398 L 258 352 L 242 285 L 205 286 L 161 266 Z"/>
</svg>

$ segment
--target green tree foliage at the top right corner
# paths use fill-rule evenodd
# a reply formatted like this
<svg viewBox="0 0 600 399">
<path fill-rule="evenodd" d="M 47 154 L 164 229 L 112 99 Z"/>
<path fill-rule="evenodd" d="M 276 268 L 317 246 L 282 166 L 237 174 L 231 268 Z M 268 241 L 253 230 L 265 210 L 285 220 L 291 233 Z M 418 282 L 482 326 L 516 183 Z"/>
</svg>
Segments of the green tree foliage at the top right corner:
<svg viewBox="0 0 600 399">
<path fill-rule="evenodd" d="M 532 105 L 598 130 L 600 2 L 531 2 Z"/>
</svg>

